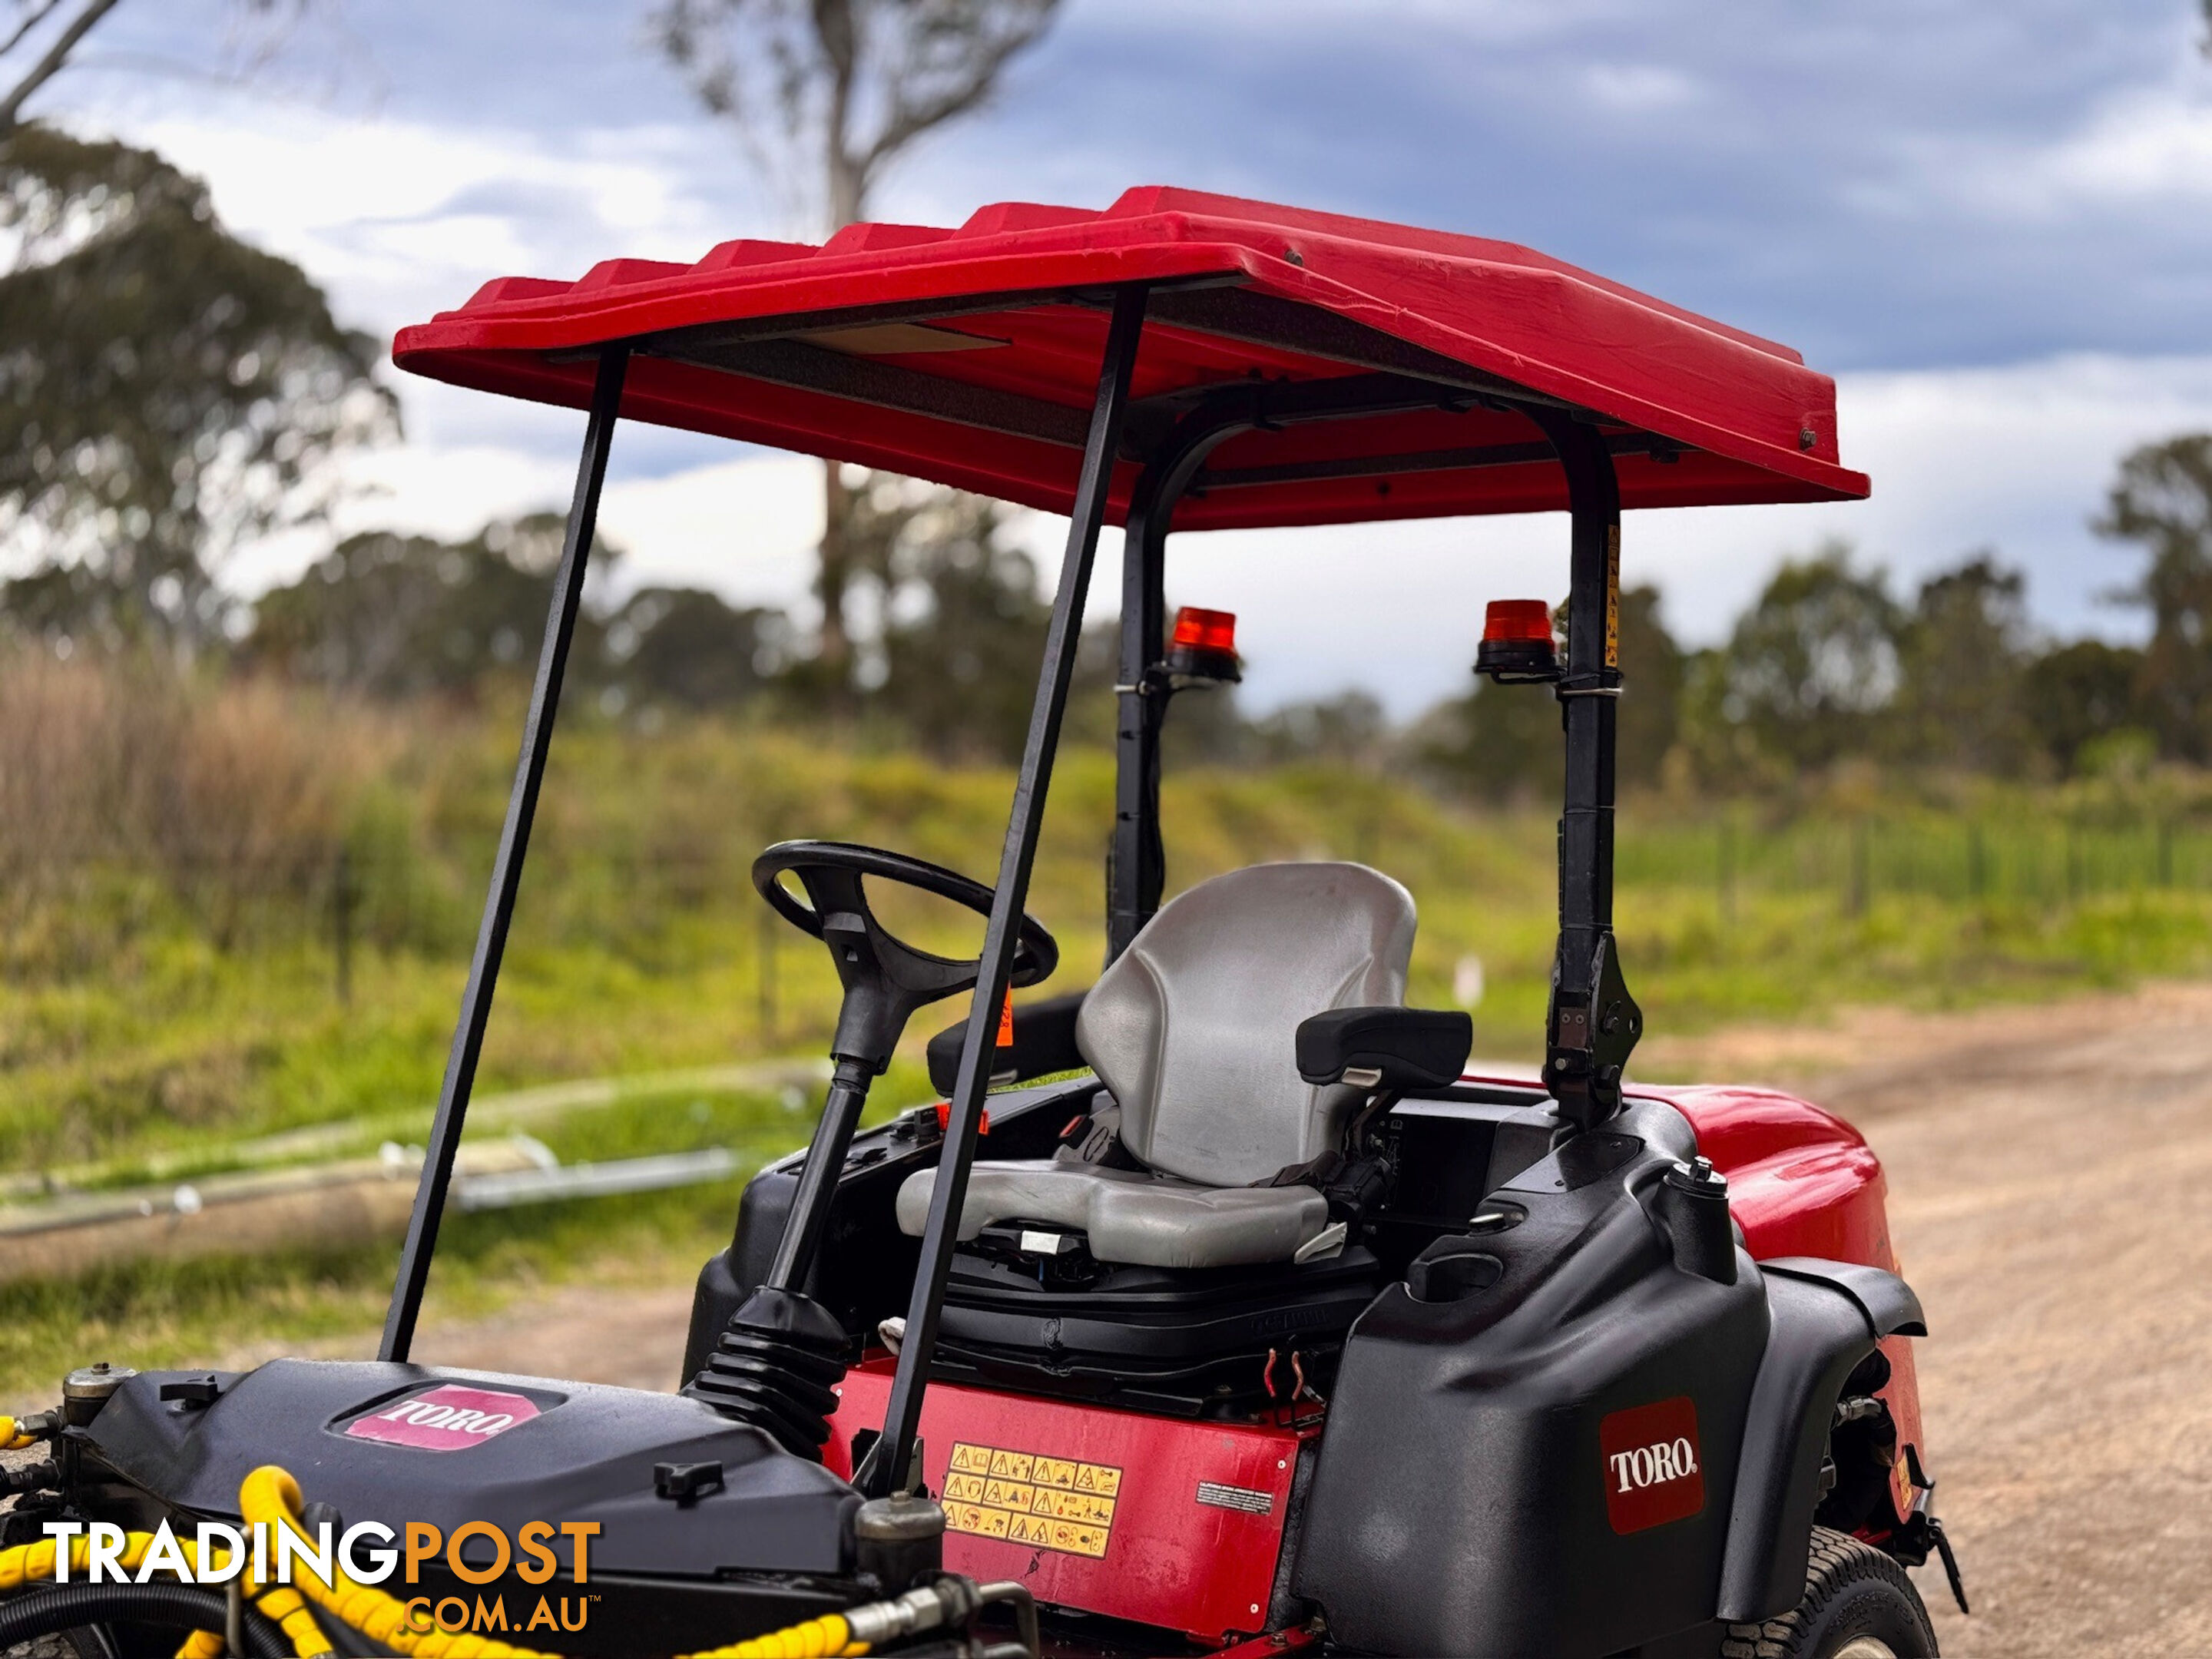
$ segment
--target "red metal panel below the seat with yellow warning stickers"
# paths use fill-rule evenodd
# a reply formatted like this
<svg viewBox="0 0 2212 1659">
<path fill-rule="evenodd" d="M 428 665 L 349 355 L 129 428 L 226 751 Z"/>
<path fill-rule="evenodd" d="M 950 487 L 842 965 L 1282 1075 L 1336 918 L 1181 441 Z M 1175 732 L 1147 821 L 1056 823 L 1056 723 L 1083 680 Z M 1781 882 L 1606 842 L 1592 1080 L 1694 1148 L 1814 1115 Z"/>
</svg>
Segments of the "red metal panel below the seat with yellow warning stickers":
<svg viewBox="0 0 2212 1659">
<path fill-rule="evenodd" d="M 883 1425 L 889 1385 L 887 1360 L 845 1378 L 823 1447 L 832 1471 L 852 1473 L 852 1433 Z M 1000 1453 L 1000 1473 L 956 1469 L 956 1449 L 962 1464 L 982 1464 L 975 1451 Z M 1139 1619 L 1201 1641 L 1265 1628 L 1298 1464 L 1296 1431 L 931 1383 L 922 1400 L 922 1480 L 945 1495 L 956 1528 L 945 1537 L 945 1564 L 956 1573 L 1018 1579 L 1040 1601 Z M 1095 1478 L 1077 1486 L 1086 1469 Z M 1115 1475 L 1113 1493 L 1102 1491 L 1104 1471 Z M 1040 1506 L 1073 1513 L 1060 1546 L 1044 1542 L 1055 1517 L 1040 1515 Z M 995 1517 L 1022 1513 L 1035 1517 L 1040 1542 L 967 1531 L 1004 1526 Z"/>
</svg>

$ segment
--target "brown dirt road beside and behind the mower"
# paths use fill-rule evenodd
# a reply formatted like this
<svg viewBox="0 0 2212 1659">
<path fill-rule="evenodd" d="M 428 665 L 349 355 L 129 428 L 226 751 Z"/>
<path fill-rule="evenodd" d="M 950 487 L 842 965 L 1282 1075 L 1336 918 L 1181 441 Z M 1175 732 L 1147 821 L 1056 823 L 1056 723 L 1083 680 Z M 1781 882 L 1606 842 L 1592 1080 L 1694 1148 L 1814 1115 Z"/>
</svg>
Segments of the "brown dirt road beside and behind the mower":
<svg viewBox="0 0 2212 1659">
<path fill-rule="evenodd" d="M 2212 987 L 1650 1046 L 1856 1121 L 1931 1336 L 1953 1659 L 2212 1657 Z M 560 1290 L 425 1358 L 670 1387 L 688 1285 Z M 254 1360 L 259 1354 L 232 1356 Z"/>
</svg>

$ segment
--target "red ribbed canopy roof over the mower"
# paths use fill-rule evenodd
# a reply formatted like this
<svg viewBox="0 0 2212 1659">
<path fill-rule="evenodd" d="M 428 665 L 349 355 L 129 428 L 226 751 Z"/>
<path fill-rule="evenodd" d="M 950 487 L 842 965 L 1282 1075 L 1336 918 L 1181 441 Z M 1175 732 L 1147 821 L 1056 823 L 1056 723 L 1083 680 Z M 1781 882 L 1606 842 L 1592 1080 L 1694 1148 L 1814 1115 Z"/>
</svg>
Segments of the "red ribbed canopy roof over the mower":
<svg viewBox="0 0 2212 1659">
<path fill-rule="evenodd" d="M 1263 425 L 1212 451 L 1179 529 L 1564 507 L 1531 403 L 1599 422 L 1624 507 L 1867 493 L 1838 462 L 1834 380 L 1783 345 L 1513 243 L 1161 186 L 1104 212 L 1002 201 L 958 230 L 502 276 L 392 358 L 586 407 L 593 347 L 630 341 L 633 420 L 1066 511 L 1108 290 L 1130 281 L 1155 288 L 1115 520 L 1144 458 L 1221 398 L 1256 398 Z"/>
</svg>

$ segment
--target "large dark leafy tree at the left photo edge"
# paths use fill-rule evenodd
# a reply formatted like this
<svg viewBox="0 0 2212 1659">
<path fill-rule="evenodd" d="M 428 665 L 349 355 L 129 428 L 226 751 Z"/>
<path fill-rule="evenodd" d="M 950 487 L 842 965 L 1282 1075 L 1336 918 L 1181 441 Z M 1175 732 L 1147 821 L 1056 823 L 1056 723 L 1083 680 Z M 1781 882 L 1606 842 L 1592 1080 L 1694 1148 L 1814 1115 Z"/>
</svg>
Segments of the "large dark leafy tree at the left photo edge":
<svg viewBox="0 0 2212 1659">
<path fill-rule="evenodd" d="M 0 546 L 35 566 L 0 611 L 55 641 L 201 644 L 223 557 L 325 515 L 325 462 L 398 429 L 376 343 L 150 150 L 15 128 L 0 228 Z"/>
</svg>

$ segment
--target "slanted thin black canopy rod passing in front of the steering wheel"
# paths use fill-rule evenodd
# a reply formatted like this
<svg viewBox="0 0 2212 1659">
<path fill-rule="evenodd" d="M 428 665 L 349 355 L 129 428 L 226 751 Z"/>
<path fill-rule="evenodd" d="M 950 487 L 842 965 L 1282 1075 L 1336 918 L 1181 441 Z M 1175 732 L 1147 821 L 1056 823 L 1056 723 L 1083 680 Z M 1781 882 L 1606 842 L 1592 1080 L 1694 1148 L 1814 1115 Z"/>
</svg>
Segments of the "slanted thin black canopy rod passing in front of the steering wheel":
<svg viewBox="0 0 2212 1659">
<path fill-rule="evenodd" d="M 1022 907 L 1029 902 L 1029 872 L 1037 858 L 1044 792 L 1053 776 L 1053 754 L 1060 748 L 1060 717 L 1068 708 L 1068 681 L 1075 677 L 1075 646 L 1084 630 L 1084 591 L 1091 586 L 1099 526 L 1106 522 L 1106 493 L 1113 487 L 1113 462 L 1121 449 L 1130 369 L 1137 365 L 1137 341 L 1144 334 L 1144 301 L 1146 288 L 1141 283 L 1117 290 L 1113 323 L 1106 327 L 1106 361 L 1099 365 L 1097 398 L 1091 405 L 1091 436 L 1084 440 L 1084 465 L 1068 513 L 1068 551 L 1060 562 L 1060 591 L 1053 595 L 1053 622 L 1044 635 L 1037 701 L 1029 710 L 1029 739 L 1022 743 L 1022 770 L 1013 783 L 1013 812 L 1006 818 L 1006 847 L 998 858 L 998 887 L 991 894 L 991 922 L 984 929 L 982 971 L 975 980 L 975 1000 L 969 1004 L 967 1037 L 960 1044 L 960 1075 L 951 1091 L 938 1179 L 929 1190 L 929 1221 L 922 1225 L 922 1254 L 914 1270 L 914 1294 L 907 1301 L 907 1334 L 898 1345 L 898 1374 L 891 1378 L 891 1398 L 883 1413 L 883 1449 L 872 1460 L 869 1498 L 907 1491 L 918 1478 L 914 1433 L 922 1422 L 922 1389 L 929 1383 L 929 1360 L 938 1345 L 945 1276 L 951 1272 L 960 1206 L 967 1201 L 969 1168 L 975 1161 L 975 1124 L 991 1084 L 998 1009 L 1006 1000 Z"/>
</svg>

